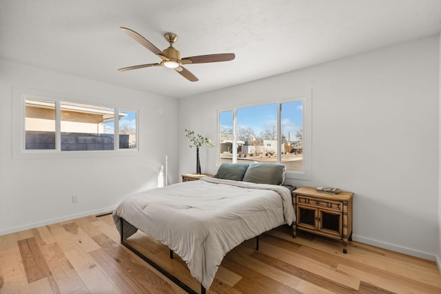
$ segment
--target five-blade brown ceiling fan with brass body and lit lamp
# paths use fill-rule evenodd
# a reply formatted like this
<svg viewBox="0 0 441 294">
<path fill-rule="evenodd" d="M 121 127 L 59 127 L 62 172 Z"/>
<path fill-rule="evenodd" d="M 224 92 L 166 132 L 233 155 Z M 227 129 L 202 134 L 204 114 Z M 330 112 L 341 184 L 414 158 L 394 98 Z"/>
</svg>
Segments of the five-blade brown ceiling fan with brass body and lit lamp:
<svg viewBox="0 0 441 294">
<path fill-rule="evenodd" d="M 122 28 L 121 30 L 132 37 L 136 42 L 143 45 L 148 50 L 152 51 L 154 54 L 159 56 L 162 59 L 161 63 L 147 63 L 141 65 L 134 65 L 129 67 L 119 68 L 119 72 L 125 72 L 126 70 L 136 70 L 143 67 L 151 67 L 151 66 L 165 66 L 176 70 L 181 76 L 187 78 L 188 81 L 196 82 L 199 81 L 194 74 L 189 72 L 182 65 L 192 64 L 192 63 L 211 63 L 211 62 L 220 62 L 220 61 L 231 61 L 234 59 L 234 53 L 223 53 L 223 54 L 208 54 L 208 55 L 199 55 L 199 56 L 191 56 L 185 57 L 181 59 L 181 52 L 176 50 L 173 47 L 173 43 L 178 40 L 178 35 L 173 34 L 172 32 L 167 32 L 164 34 L 167 42 L 170 43 L 170 46 L 161 51 L 156 48 L 155 45 L 147 41 L 141 34 L 138 34 L 134 30 L 130 30 L 128 28 Z"/>
</svg>

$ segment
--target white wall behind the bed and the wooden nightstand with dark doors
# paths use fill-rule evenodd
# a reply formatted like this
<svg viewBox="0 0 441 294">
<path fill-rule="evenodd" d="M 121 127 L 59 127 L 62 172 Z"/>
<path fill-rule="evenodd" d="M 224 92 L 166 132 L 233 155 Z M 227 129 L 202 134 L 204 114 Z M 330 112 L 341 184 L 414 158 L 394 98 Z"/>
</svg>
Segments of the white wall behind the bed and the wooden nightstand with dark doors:
<svg viewBox="0 0 441 294">
<path fill-rule="evenodd" d="M 194 172 L 183 129 L 216 139 L 216 109 L 312 89 L 312 177 L 298 187 L 355 193 L 353 240 L 435 259 L 438 245 L 439 37 L 412 41 L 181 99 L 179 173 Z M 201 149 L 215 173 L 216 149 Z"/>
</svg>

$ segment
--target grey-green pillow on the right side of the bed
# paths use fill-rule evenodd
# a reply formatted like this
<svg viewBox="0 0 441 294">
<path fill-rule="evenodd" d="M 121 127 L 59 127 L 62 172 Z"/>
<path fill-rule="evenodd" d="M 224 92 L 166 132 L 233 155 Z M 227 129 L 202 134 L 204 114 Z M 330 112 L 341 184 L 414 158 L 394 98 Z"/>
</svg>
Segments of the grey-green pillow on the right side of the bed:
<svg viewBox="0 0 441 294">
<path fill-rule="evenodd" d="M 243 182 L 282 185 L 283 181 L 285 181 L 286 171 L 286 165 L 252 163 L 245 172 L 245 176 L 243 176 Z"/>
</svg>

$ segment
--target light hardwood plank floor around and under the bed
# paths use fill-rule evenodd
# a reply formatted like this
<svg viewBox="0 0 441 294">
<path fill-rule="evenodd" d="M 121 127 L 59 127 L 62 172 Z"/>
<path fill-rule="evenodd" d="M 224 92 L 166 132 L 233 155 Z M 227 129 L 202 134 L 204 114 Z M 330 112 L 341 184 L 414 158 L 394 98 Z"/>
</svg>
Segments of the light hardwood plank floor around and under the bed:
<svg viewBox="0 0 441 294">
<path fill-rule="evenodd" d="M 185 263 L 143 233 L 130 244 L 188 286 Z M 435 262 L 288 226 L 227 253 L 207 293 L 441 293 Z M 175 255 L 176 256 L 176 255 Z M 111 216 L 88 216 L 0 236 L 0 293 L 185 293 L 119 244 Z"/>
</svg>

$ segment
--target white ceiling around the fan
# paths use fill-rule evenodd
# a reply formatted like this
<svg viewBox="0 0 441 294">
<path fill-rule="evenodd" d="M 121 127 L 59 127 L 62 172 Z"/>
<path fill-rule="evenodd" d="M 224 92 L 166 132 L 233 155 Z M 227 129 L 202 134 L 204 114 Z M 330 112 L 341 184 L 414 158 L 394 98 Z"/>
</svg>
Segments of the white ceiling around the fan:
<svg viewBox="0 0 441 294">
<path fill-rule="evenodd" d="M 189 82 L 119 30 L 181 56 L 232 52 L 185 65 Z M 441 32 L 441 0 L 0 0 L 0 59 L 182 98 Z"/>
</svg>

